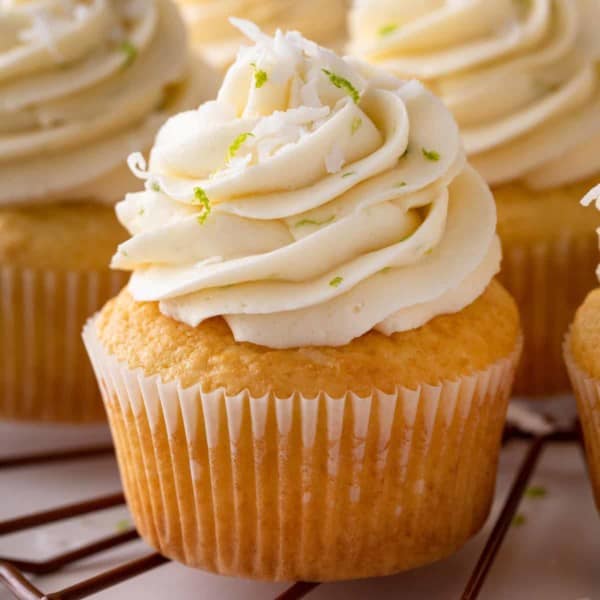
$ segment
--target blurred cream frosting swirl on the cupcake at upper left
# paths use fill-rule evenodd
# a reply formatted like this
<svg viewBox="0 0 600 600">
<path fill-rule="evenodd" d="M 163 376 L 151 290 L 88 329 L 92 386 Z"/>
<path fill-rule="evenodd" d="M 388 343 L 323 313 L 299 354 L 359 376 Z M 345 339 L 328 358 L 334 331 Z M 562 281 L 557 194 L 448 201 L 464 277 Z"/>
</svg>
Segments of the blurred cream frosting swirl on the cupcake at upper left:
<svg viewBox="0 0 600 600">
<path fill-rule="evenodd" d="M 0 204 L 122 198 L 127 155 L 214 77 L 171 0 L 4 0 Z"/>
</svg>

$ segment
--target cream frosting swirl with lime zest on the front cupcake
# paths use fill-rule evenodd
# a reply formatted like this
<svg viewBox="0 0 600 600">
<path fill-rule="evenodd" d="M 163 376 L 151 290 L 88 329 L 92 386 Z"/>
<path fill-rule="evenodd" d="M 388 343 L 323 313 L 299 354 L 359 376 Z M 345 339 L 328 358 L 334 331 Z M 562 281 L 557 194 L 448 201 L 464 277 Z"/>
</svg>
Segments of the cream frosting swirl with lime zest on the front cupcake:
<svg viewBox="0 0 600 600">
<path fill-rule="evenodd" d="M 342 345 L 474 301 L 499 269 L 496 213 L 443 104 L 302 38 L 256 42 L 218 98 L 170 119 L 113 267 L 130 291 L 238 341 Z M 209 213 L 210 209 L 210 213 Z"/>
</svg>

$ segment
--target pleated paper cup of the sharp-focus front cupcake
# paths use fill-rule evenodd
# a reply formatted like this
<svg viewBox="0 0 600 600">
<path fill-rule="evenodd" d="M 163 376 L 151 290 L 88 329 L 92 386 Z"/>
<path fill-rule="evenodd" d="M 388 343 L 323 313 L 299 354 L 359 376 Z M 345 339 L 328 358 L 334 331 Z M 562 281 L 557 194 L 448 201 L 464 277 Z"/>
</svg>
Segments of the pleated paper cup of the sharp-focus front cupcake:
<svg viewBox="0 0 600 600">
<path fill-rule="evenodd" d="M 84 340 L 130 509 L 159 552 L 221 574 L 327 581 L 456 551 L 484 523 L 519 347 L 394 393 L 228 396 L 131 370 Z"/>
</svg>

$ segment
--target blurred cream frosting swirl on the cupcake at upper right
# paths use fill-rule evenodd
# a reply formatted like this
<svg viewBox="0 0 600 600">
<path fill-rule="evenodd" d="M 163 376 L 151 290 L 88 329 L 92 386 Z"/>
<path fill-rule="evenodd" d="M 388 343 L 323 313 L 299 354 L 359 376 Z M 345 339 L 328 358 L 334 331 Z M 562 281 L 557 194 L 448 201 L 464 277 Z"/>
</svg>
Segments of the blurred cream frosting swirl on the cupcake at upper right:
<svg viewBox="0 0 600 600">
<path fill-rule="evenodd" d="M 351 47 L 425 80 L 489 183 L 554 187 L 600 171 L 598 19 L 598 0 L 357 0 Z"/>
</svg>

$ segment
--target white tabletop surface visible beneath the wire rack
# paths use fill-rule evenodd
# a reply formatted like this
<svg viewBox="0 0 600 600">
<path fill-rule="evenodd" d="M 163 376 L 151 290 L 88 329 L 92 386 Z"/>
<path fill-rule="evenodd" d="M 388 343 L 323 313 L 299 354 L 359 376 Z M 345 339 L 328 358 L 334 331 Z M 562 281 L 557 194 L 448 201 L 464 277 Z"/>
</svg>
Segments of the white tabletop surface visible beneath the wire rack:
<svg viewBox="0 0 600 600">
<path fill-rule="evenodd" d="M 0 424 L 0 456 L 27 450 L 99 443 L 103 428 L 35 428 Z M 513 442 L 502 455 L 494 515 L 484 532 L 454 557 L 423 569 L 378 580 L 319 586 L 309 600 L 448 600 L 459 598 L 485 543 L 501 500 L 525 450 Z M 574 445 L 554 444 L 542 456 L 532 484 L 544 486 L 544 498 L 525 499 L 525 517 L 512 527 L 483 589 L 482 600 L 579 600 L 600 598 L 600 520 L 593 504 L 581 453 Z M 0 519 L 119 488 L 112 459 L 100 458 L 0 472 Z M 30 532 L 0 538 L 0 555 L 36 558 L 114 533 L 127 519 L 125 508 L 92 513 Z M 95 573 L 142 556 L 143 542 L 126 544 L 81 561 L 36 585 L 56 591 Z M 286 585 L 233 580 L 168 564 L 95 596 L 110 600 L 254 600 L 274 598 Z M 0 600 L 11 598 L 0 586 Z"/>
</svg>

